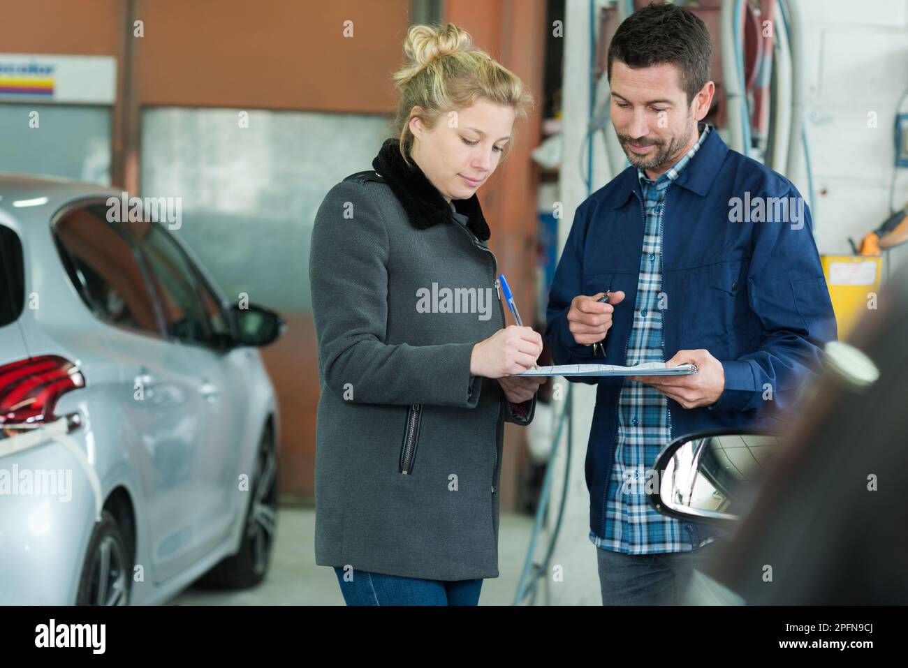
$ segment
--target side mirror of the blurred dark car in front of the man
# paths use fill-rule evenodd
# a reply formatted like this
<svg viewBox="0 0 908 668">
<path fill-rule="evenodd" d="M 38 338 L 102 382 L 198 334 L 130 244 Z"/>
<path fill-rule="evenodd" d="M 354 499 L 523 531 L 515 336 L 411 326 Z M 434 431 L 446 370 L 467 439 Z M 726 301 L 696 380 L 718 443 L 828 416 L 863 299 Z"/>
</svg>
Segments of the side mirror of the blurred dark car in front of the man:
<svg viewBox="0 0 908 668">
<path fill-rule="evenodd" d="M 656 458 L 646 486 L 663 515 L 705 524 L 735 522 L 750 509 L 780 437 L 759 431 L 706 431 L 676 438 Z"/>
</svg>

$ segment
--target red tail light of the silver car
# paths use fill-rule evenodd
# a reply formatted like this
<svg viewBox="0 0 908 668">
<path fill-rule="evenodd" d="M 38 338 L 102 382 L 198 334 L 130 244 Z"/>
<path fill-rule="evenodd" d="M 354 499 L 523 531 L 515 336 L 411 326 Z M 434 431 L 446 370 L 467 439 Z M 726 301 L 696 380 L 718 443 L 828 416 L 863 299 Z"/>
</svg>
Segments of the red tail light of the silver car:
<svg viewBox="0 0 908 668">
<path fill-rule="evenodd" d="M 57 401 L 84 388 L 82 372 L 68 359 L 41 355 L 0 366 L 0 429 L 40 427 L 57 419 Z"/>
</svg>

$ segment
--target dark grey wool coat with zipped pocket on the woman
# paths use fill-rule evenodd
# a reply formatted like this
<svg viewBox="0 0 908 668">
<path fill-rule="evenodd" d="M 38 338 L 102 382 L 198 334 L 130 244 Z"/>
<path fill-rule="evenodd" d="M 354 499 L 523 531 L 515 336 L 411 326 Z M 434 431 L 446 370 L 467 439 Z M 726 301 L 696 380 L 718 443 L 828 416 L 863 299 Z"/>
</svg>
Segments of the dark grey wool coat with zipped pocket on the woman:
<svg viewBox="0 0 908 668">
<path fill-rule="evenodd" d="M 316 563 L 498 577 L 504 422 L 528 424 L 535 398 L 512 405 L 469 375 L 474 344 L 506 326 L 495 256 L 466 216 L 420 215 L 378 172 L 335 185 L 316 215 Z"/>
</svg>

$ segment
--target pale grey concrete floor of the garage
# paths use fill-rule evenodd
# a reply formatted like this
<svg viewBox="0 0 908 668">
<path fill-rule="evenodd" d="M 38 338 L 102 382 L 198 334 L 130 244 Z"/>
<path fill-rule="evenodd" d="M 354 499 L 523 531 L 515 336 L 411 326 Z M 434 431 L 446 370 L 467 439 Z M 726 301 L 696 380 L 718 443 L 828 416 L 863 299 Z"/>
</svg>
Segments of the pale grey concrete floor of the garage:
<svg viewBox="0 0 908 668">
<path fill-rule="evenodd" d="M 517 592 L 526 558 L 533 518 L 501 514 L 498 534 L 497 578 L 487 579 L 480 605 L 509 605 Z M 315 509 L 283 505 L 278 511 L 278 532 L 271 571 L 262 585 L 244 592 L 212 592 L 190 587 L 174 605 L 342 605 L 334 570 L 315 565 Z"/>
</svg>

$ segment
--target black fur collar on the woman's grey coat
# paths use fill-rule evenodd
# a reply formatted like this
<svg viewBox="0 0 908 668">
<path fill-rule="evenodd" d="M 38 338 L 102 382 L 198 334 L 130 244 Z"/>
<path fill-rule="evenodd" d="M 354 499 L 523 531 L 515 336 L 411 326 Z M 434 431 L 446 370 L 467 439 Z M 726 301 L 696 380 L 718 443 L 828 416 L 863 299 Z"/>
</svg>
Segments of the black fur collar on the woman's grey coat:
<svg viewBox="0 0 908 668">
<path fill-rule="evenodd" d="M 453 222 L 448 202 L 441 196 L 438 188 L 426 178 L 416 162 L 410 160 L 411 166 L 403 162 L 398 144 L 400 140 L 386 140 L 379 154 L 372 161 L 372 168 L 385 178 L 391 191 L 400 200 L 404 211 L 410 218 L 410 224 L 419 230 L 432 225 Z M 469 200 L 451 200 L 458 213 L 469 221 L 467 227 L 482 241 L 489 240 L 489 225 L 486 223 L 479 198 L 474 193 Z"/>
</svg>

